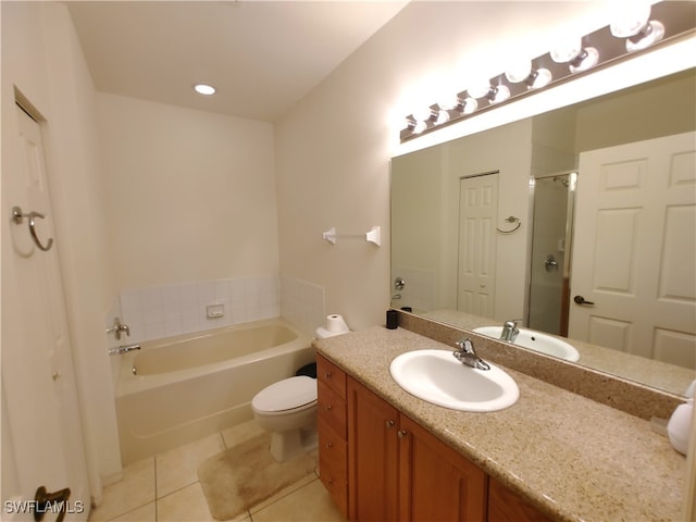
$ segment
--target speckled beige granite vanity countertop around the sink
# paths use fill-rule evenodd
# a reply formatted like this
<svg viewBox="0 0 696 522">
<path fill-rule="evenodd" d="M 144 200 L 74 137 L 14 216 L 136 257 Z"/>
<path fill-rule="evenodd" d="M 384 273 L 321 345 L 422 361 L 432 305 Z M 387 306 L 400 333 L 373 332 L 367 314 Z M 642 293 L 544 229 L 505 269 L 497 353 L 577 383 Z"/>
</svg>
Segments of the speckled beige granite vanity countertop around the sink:
<svg viewBox="0 0 696 522">
<path fill-rule="evenodd" d="M 555 520 L 682 519 L 685 459 L 643 419 L 501 363 L 520 388 L 512 407 L 470 413 L 431 405 L 401 389 L 389 363 L 406 351 L 451 348 L 405 328 L 375 326 L 313 346 Z"/>
</svg>

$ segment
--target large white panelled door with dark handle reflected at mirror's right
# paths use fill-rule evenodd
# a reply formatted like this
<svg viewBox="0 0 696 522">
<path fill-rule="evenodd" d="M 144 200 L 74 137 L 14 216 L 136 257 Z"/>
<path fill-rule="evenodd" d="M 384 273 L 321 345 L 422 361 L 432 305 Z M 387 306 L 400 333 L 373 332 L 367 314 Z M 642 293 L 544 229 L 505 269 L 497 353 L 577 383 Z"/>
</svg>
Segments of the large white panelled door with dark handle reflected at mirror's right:
<svg viewBox="0 0 696 522">
<path fill-rule="evenodd" d="M 695 149 L 686 133 L 580 156 L 571 338 L 696 368 Z"/>
</svg>

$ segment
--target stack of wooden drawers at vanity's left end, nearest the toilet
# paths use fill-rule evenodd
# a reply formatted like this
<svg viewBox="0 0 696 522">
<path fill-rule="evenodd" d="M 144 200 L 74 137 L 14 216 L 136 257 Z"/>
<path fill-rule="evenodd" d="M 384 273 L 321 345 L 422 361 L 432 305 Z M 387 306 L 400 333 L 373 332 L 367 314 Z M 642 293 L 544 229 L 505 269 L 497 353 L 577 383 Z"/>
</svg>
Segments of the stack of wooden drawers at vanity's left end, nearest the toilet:
<svg viewBox="0 0 696 522">
<path fill-rule="evenodd" d="M 334 504 L 348 515 L 346 373 L 316 356 L 319 476 Z"/>
</svg>

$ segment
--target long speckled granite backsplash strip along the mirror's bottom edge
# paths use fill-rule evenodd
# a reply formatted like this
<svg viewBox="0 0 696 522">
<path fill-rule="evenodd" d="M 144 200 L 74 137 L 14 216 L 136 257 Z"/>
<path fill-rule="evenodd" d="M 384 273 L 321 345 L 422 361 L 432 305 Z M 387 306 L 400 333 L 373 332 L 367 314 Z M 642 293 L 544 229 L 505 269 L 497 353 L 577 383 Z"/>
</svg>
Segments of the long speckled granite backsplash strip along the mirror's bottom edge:
<svg viewBox="0 0 696 522">
<path fill-rule="evenodd" d="M 474 341 L 476 353 L 483 359 L 648 421 L 654 417 L 669 419 L 674 409 L 685 402 L 684 397 L 668 391 L 511 347 L 507 343 L 411 313 L 399 311 L 399 326 L 448 346 L 455 346 L 462 337 L 470 337 Z"/>
</svg>

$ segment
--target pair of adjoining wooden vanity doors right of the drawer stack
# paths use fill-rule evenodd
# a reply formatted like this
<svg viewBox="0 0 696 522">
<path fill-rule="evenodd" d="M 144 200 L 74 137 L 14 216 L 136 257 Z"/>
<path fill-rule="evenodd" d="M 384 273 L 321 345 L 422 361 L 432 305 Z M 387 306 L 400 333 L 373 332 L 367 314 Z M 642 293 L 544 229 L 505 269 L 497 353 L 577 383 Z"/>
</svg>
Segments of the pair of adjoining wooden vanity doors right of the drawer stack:
<svg viewBox="0 0 696 522">
<path fill-rule="evenodd" d="M 483 471 L 350 377 L 347 390 L 351 520 L 485 520 Z"/>
</svg>

